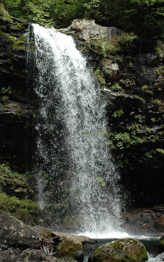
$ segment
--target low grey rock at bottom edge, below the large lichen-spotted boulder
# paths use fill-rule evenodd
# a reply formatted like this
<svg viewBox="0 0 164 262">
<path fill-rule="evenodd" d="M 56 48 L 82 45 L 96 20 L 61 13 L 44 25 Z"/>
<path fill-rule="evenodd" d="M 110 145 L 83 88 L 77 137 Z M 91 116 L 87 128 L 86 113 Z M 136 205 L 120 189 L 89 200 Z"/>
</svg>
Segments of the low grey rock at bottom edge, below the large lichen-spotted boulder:
<svg viewBox="0 0 164 262">
<path fill-rule="evenodd" d="M 57 261 L 56 257 L 49 256 L 41 249 L 26 249 L 22 252 L 17 262 L 54 262 Z"/>
</svg>

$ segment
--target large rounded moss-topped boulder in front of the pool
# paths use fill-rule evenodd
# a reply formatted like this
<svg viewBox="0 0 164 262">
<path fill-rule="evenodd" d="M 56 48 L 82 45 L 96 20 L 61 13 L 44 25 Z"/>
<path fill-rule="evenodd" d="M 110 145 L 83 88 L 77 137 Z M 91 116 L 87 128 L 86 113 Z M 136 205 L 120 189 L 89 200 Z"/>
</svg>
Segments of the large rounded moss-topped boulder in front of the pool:
<svg viewBox="0 0 164 262">
<path fill-rule="evenodd" d="M 91 257 L 93 262 L 144 262 L 148 260 L 146 248 L 136 239 L 125 238 L 98 247 Z"/>
</svg>

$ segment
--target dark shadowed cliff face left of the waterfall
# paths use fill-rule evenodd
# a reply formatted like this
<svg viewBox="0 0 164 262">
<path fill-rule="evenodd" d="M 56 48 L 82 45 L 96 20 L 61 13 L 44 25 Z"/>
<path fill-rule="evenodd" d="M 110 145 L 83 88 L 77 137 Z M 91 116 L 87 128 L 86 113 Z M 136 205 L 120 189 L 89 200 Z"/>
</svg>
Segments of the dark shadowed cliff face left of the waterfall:
<svg viewBox="0 0 164 262">
<path fill-rule="evenodd" d="M 0 157 L 25 170 L 32 168 L 33 153 L 33 92 L 29 95 L 27 90 L 29 23 L 13 20 L 11 29 L 0 35 Z"/>
</svg>

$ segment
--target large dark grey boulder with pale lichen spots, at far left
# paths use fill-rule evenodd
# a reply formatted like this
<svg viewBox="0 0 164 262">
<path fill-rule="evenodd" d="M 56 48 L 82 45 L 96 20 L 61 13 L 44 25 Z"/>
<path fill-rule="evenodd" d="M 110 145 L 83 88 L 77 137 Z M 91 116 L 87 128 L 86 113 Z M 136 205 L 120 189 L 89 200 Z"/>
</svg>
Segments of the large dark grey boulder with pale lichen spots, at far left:
<svg viewBox="0 0 164 262">
<path fill-rule="evenodd" d="M 0 248 L 8 247 L 41 247 L 41 236 L 31 226 L 27 226 L 22 221 L 12 215 L 0 211 Z"/>
</svg>

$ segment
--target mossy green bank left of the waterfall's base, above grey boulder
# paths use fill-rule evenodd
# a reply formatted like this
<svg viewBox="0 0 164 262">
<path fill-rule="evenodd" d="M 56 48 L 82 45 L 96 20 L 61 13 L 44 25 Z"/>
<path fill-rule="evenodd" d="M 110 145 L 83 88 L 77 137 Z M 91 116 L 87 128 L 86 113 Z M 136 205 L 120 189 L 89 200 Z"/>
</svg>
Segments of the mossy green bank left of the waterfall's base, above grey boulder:
<svg viewBox="0 0 164 262">
<path fill-rule="evenodd" d="M 12 171 L 7 163 L 0 165 L 0 209 L 23 222 L 38 222 L 40 209 L 37 203 L 27 198 L 34 192 L 26 180 L 25 174 Z"/>
</svg>

